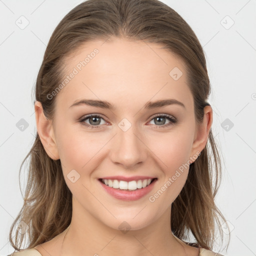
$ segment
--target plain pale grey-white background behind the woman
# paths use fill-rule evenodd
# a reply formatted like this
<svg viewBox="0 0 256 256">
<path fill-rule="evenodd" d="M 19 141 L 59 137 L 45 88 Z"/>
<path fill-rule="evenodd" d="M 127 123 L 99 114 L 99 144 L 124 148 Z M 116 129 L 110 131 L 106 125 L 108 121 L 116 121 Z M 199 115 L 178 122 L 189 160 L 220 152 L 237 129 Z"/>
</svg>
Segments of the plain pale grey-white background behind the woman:
<svg viewBox="0 0 256 256">
<path fill-rule="evenodd" d="M 21 191 L 18 170 L 36 133 L 31 93 L 43 53 L 55 26 L 80 2 L 0 0 L 0 255 L 12 251 L 8 231 L 22 206 L 26 170 Z M 231 229 L 220 253 L 256 255 L 256 1 L 163 2 L 192 27 L 206 54 L 212 129 L 224 162 L 216 204 Z"/>
</svg>

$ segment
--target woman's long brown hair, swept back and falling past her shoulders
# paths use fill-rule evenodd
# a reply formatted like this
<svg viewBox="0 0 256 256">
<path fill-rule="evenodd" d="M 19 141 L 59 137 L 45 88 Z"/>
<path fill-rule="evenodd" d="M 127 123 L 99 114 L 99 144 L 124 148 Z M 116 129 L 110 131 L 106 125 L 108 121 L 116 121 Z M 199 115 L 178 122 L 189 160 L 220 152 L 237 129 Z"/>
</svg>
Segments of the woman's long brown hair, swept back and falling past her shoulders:
<svg viewBox="0 0 256 256">
<path fill-rule="evenodd" d="M 202 121 L 210 93 L 203 49 L 184 19 L 158 0 L 87 0 L 64 16 L 49 39 L 35 84 L 35 98 L 48 119 L 53 119 L 55 98 L 49 99 L 47 95 L 62 80 L 65 57 L 87 41 L 107 40 L 110 36 L 159 43 L 180 57 L 187 69 L 196 122 Z M 26 233 L 16 229 L 15 242 L 12 240 L 14 226 L 20 221 L 29 227 L 27 248 L 32 248 L 64 231 L 72 214 L 72 194 L 60 160 L 47 155 L 38 133 L 20 169 L 29 156 L 24 203 L 9 233 L 16 250 L 26 237 Z M 179 239 L 191 232 L 196 240 L 187 242 L 191 246 L 212 249 L 215 224 L 222 240 L 219 219 L 225 218 L 214 203 L 220 177 L 221 161 L 210 129 L 206 146 L 190 164 L 187 180 L 171 208 L 171 231 Z"/>
</svg>

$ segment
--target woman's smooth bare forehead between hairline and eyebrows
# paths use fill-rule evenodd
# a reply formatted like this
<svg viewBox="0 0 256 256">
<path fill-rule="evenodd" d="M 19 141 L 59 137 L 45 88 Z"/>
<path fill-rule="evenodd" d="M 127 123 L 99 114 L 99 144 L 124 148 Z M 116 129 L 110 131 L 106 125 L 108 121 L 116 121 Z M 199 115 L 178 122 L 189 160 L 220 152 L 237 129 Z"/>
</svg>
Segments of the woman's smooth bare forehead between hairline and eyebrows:
<svg viewBox="0 0 256 256">
<path fill-rule="evenodd" d="M 117 107 L 165 98 L 187 107 L 193 102 L 183 61 L 161 44 L 121 38 L 90 41 L 64 63 L 57 104 L 70 106 L 83 98 L 107 100 Z"/>
</svg>

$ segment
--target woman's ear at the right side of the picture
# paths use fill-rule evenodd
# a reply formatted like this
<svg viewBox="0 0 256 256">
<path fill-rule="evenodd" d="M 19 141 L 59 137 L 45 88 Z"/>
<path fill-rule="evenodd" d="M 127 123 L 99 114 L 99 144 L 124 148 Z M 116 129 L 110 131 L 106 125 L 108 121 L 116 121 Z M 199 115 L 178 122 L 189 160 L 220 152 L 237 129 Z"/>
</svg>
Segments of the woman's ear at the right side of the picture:
<svg viewBox="0 0 256 256">
<path fill-rule="evenodd" d="M 190 163 L 194 162 L 207 143 L 210 127 L 212 124 L 212 108 L 210 105 L 204 107 L 203 121 L 197 126 L 192 143 Z"/>
</svg>

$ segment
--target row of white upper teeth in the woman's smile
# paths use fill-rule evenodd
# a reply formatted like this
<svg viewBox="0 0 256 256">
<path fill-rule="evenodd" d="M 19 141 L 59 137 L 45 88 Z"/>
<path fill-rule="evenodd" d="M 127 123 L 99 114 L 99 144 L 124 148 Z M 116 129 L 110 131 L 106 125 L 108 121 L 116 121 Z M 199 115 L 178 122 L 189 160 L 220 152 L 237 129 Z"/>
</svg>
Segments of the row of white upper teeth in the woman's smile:
<svg viewBox="0 0 256 256">
<path fill-rule="evenodd" d="M 124 180 L 117 180 L 117 179 L 102 179 L 105 185 L 108 185 L 113 188 L 119 188 L 124 190 L 136 190 L 142 187 L 146 187 L 152 181 L 151 178 L 148 179 L 139 179 L 139 180 L 132 180 L 132 181 L 124 181 Z"/>
</svg>

